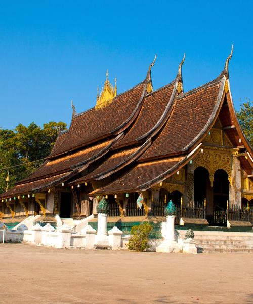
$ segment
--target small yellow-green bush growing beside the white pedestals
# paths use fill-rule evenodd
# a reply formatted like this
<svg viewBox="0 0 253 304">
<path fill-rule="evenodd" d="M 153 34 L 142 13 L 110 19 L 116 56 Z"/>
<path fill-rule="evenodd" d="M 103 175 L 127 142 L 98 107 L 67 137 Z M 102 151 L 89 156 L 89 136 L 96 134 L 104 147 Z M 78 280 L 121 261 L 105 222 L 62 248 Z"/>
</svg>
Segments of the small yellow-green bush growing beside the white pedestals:
<svg viewBox="0 0 253 304">
<path fill-rule="evenodd" d="M 149 248 L 148 240 L 153 226 L 150 223 L 141 223 L 131 228 L 131 237 L 128 243 L 129 250 L 146 251 Z"/>
</svg>

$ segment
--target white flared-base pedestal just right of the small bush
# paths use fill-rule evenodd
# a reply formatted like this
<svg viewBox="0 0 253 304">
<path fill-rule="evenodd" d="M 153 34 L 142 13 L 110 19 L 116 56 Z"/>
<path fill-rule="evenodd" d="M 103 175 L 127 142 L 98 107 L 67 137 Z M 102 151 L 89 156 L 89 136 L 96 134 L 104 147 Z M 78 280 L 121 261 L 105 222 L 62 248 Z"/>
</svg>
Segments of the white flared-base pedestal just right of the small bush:
<svg viewBox="0 0 253 304">
<path fill-rule="evenodd" d="M 175 221 L 175 215 L 169 215 L 167 216 L 166 221 L 166 232 L 165 232 L 165 240 L 156 247 L 156 252 L 181 252 L 182 247 L 179 246 L 179 244 L 175 241 L 174 233 L 174 221 Z"/>
</svg>

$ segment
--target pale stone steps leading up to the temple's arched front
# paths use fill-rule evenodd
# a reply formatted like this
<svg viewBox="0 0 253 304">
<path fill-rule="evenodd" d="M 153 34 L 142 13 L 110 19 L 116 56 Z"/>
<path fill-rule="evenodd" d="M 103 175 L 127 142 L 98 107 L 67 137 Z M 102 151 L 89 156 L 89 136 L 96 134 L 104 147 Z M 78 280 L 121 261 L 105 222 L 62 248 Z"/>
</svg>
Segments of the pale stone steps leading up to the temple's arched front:
<svg viewBox="0 0 253 304">
<path fill-rule="evenodd" d="M 186 230 L 178 230 L 184 238 Z M 224 231 L 195 231 L 194 240 L 197 242 L 198 253 L 237 252 L 253 253 L 252 232 L 224 232 Z"/>
</svg>

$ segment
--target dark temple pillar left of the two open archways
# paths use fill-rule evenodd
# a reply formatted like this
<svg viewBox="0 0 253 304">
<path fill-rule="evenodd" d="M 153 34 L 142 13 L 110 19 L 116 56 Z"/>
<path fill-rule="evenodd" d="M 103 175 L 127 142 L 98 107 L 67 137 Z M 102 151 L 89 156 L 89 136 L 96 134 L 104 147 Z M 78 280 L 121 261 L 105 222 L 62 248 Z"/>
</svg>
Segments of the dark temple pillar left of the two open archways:
<svg viewBox="0 0 253 304">
<path fill-rule="evenodd" d="M 186 187 L 184 192 L 183 206 L 193 206 L 194 203 L 194 161 L 186 165 Z"/>
</svg>

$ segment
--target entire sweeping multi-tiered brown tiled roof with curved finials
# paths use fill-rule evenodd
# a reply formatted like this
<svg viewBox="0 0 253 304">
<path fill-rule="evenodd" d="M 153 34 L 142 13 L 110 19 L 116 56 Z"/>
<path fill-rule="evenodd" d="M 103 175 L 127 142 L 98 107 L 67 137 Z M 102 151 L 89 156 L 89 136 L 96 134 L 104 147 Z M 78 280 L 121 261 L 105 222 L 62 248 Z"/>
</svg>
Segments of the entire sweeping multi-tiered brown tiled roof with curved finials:
<svg viewBox="0 0 253 304">
<path fill-rule="evenodd" d="M 153 62 L 143 82 L 110 104 L 80 115 L 74 111 L 69 130 L 59 135 L 43 166 L 0 197 L 109 175 L 111 182 L 91 194 L 145 190 L 198 153 L 218 115 L 223 126 L 235 126 L 225 132 L 235 146 L 241 138 L 248 155 L 241 164 L 252 172 L 252 149 L 239 127 L 229 90 L 230 58 L 231 54 L 217 79 L 187 93 L 182 91 L 184 59 L 175 81 L 150 93 Z"/>
</svg>

